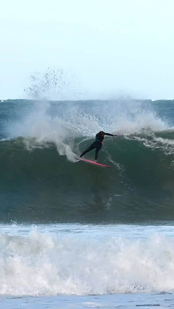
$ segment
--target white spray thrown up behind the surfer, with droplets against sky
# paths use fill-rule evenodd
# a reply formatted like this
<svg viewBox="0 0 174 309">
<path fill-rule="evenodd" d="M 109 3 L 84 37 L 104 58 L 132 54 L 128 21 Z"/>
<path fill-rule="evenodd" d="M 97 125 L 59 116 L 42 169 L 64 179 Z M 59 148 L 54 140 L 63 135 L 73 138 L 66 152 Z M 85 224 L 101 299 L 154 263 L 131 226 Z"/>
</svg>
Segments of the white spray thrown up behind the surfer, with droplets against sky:
<svg viewBox="0 0 174 309">
<path fill-rule="evenodd" d="M 31 85 L 25 88 L 25 93 L 35 101 L 31 102 L 31 108 L 22 120 L 12 125 L 11 132 L 25 137 L 28 150 L 49 147 L 53 142 L 59 155 L 66 155 L 72 162 L 76 162 L 72 151 L 76 138 L 94 137 L 100 130 L 129 135 L 146 128 L 151 131 L 166 129 L 150 105 L 143 101 L 48 101 L 86 97 L 72 71 L 52 67 L 45 72 L 36 72 L 31 76 Z M 51 109 L 54 112 L 51 113 Z"/>
</svg>

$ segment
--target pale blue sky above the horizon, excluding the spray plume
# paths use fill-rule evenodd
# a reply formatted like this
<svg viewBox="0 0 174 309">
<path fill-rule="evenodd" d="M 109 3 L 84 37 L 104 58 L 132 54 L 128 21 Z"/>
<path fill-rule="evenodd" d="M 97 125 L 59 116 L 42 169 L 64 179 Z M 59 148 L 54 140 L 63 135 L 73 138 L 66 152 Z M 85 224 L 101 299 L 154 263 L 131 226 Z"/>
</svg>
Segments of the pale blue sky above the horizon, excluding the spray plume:
<svg viewBox="0 0 174 309">
<path fill-rule="evenodd" d="M 89 98 L 174 98 L 173 12 L 174 0 L 2 1 L 0 99 L 48 66 L 73 70 Z"/>
</svg>

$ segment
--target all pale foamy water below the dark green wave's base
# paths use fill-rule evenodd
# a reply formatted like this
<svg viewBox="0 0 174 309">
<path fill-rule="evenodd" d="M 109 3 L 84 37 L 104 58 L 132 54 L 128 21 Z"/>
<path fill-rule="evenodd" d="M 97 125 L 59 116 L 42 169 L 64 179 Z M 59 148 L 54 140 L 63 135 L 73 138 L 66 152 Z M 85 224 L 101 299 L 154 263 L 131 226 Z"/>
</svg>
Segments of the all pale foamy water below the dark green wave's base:
<svg viewBox="0 0 174 309">
<path fill-rule="evenodd" d="M 165 308 L 173 300 L 173 226 L 13 224 L 0 231 L 4 304 L 8 295 L 11 305 L 19 298 L 18 306 L 31 308 L 59 301 L 67 308 L 65 300 L 113 308 L 121 294 L 124 308 L 130 301 Z"/>
</svg>

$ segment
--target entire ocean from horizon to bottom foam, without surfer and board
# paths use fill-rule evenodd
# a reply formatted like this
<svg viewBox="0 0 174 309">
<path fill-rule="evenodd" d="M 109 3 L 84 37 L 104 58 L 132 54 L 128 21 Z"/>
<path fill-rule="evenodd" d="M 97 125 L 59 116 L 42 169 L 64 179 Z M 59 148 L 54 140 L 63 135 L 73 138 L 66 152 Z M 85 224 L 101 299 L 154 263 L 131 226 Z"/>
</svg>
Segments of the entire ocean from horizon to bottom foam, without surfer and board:
<svg viewBox="0 0 174 309">
<path fill-rule="evenodd" d="M 0 100 L 1 308 L 173 307 L 173 102 Z"/>
</svg>

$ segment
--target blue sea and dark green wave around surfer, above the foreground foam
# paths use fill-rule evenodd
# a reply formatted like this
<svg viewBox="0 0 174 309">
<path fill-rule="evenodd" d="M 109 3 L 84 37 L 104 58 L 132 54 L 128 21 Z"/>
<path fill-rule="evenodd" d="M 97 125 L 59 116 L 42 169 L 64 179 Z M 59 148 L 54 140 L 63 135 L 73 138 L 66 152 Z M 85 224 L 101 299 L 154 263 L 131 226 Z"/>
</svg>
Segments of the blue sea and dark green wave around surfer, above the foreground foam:
<svg viewBox="0 0 174 309">
<path fill-rule="evenodd" d="M 172 101 L 7 100 L 0 108 L 4 222 L 173 220 Z M 99 130 L 118 134 L 99 152 L 110 169 L 76 159 Z"/>
</svg>

